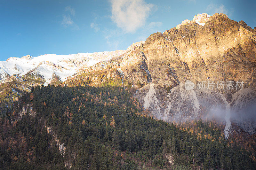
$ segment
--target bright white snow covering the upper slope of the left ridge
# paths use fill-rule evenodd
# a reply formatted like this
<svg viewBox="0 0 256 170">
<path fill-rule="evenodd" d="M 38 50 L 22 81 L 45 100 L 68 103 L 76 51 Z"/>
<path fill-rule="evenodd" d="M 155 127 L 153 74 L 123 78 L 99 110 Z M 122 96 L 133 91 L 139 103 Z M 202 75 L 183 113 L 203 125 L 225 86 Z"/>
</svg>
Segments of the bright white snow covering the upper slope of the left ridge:
<svg viewBox="0 0 256 170">
<path fill-rule="evenodd" d="M 7 77 L 13 74 L 22 76 L 27 73 L 43 78 L 46 84 L 50 83 L 53 75 L 64 81 L 68 76 L 74 75 L 79 67 L 90 67 L 100 61 L 119 56 L 126 51 L 116 50 L 71 55 L 45 54 L 38 57 L 11 57 L 6 61 L 0 62 L 0 82 L 4 82 Z"/>
</svg>

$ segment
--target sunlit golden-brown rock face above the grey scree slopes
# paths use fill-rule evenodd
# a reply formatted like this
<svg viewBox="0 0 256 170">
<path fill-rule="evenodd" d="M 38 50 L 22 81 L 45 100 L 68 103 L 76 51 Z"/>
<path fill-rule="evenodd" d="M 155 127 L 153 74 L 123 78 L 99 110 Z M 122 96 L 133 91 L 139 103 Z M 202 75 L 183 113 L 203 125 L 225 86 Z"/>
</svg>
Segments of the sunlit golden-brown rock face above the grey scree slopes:
<svg viewBox="0 0 256 170">
<path fill-rule="evenodd" d="M 134 84 L 139 80 L 145 84 L 152 81 L 161 87 L 175 87 L 186 80 L 196 84 L 208 80 L 244 81 L 244 87 L 255 89 L 255 34 L 256 30 L 244 21 L 236 22 L 225 14 L 198 14 L 178 29 L 173 27 L 163 34 L 154 33 L 128 53 L 83 72 L 114 66 L 124 72 L 124 79 Z"/>
</svg>

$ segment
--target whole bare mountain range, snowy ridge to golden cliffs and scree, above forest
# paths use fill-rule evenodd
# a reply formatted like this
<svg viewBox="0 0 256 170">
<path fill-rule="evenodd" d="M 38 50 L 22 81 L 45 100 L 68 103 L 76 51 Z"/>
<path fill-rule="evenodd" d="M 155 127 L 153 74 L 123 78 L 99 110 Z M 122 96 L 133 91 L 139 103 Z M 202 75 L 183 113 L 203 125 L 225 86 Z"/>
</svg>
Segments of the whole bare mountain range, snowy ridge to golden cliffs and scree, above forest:
<svg viewBox="0 0 256 170">
<path fill-rule="evenodd" d="M 137 88 L 134 97 L 156 119 L 184 122 L 213 117 L 224 121 L 227 129 L 233 119 L 247 132 L 255 132 L 254 120 L 246 127 L 235 115 L 240 105 L 255 105 L 236 96 L 249 93 L 256 98 L 256 27 L 222 13 L 197 14 L 127 50 L 9 58 L 0 67 L 2 88 L 21 91 L 36 83 L 99 85 L 114 79 Z M 186 81 L 195 87 L 186 90 Z M 218 88 L 221 81 L 223 89 Z M 205 82 L 204 89 L 200 82 Z M 210 82 L 214 84 L 209 88 Z"/>
</svg>

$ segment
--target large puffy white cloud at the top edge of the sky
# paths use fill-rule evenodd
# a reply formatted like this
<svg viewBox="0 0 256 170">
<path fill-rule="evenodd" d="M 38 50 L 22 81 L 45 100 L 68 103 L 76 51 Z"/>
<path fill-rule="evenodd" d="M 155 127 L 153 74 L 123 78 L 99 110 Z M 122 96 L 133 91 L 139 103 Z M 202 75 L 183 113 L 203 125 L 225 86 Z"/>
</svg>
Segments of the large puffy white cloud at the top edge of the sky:
<svg viewBox="0 0 256 170">
<path fill-rule="evenodd" d="M 111 19 L 125 32 L 135 32 L 143 26 L 153 8 L 144 0 L 111 0 Z"/>
</svg>

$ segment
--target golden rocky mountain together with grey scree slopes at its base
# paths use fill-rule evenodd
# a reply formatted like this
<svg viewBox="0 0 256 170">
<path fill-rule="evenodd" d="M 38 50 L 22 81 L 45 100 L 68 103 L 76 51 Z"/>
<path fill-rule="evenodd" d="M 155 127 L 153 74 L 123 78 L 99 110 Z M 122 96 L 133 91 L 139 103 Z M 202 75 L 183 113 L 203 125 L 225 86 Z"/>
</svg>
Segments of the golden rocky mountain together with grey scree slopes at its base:
<svg viewBox="0 0 256 170">
<path fill-rule="evenodd" d="M 243 89 L 255 92 L 256 28 L 225 14 L 198 14 L 192 21 L 185 20 L 163 34 L 154 33 L 129 52 L 84 69 L 83 73 L 106 69 L 111 70 L 112 78 L 145 84 L 135 97 L 157 119 L 186 121 L 220 116 L 213 112 L 226 115 L 227 109 L 236 109 L 234 93 L 245 92 L 235 88 L 236 82 L 243 81 Z M 94 78 L 100 82 L 103 79 Z M 185 89 L 187 80 L 195 83 L 194 89 Z M 197 89 L 202 81 L 205 89 Z M 208 88 L 207 83 L 212 81 L 215 84 Z M 217 88 L 218 81 L 223 81 L 224 88 Z M 228 117 L 221 117 L 227 124 L 234 117 L 233 110 Z M 255 127 L 247 131 L 252 129 Z"/>
</svg>

